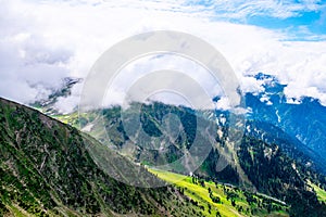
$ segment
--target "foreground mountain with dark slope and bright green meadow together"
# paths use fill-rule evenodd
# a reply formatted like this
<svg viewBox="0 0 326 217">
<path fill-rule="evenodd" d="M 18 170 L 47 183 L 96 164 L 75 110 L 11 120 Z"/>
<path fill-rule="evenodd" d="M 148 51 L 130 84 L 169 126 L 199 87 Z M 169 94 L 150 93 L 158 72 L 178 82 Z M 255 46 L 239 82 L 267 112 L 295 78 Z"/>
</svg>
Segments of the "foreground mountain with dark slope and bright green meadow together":
<svg viewBox="0 0 326 217">
<path fill-rule="evenodd" d="M 0 120 L 0 216 L 288 216 L 287 204 L 265 194 L 148 171 L 76 128 L 4 99 Z M 140 186 L 174 186 L 131 187 L 116 180 L 121 169 Z"/>
</svg>

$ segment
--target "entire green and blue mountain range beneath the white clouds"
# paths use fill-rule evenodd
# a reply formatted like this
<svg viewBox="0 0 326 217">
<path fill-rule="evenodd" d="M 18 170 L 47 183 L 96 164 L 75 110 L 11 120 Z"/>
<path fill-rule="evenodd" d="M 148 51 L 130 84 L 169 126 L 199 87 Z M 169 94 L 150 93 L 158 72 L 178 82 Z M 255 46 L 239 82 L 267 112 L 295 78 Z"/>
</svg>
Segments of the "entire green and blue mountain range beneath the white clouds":
<svg viewBox="0 0 326 217">
<path fill-rule="evenodd" d="M 264 92 L 246 93 L 249 112 L 237 145 L 229 111 L 130 104 L 125 118 L 140 107 L 135 130 L 153 141 L 125 129 L 121 106 L 61 114 L 57 100 L 79 79 L 66 78 L 49 99 L 29 105 L 38 111 L 1 99 L 0 215 L 326 216 L 326 108 L 311 98 L 291 104 L 275 77 L 254 78 Z M 184 130 L 175 142 L 160 140 L 171 114 Z M 196 139 L 212 148 L 189 176 Z M 174 166 L 156 170 L 161 164 Z M 124 173 L 137 177 L 134 186 L 163 187 L 131 187 Z"/>
</svg>

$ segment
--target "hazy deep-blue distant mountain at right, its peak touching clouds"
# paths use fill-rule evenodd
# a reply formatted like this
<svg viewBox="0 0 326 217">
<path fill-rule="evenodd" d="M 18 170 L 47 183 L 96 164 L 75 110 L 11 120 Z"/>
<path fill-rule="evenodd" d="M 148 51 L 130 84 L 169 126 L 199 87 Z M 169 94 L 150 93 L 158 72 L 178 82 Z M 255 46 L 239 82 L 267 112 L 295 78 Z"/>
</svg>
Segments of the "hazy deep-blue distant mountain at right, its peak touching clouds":
<svg viewBox="0 0 326 217">
<path fill-rule="evenodd" d="M 254 78 L 263 82 L 264 91 L 246 94 L 246 105 L 251 110 L 249 118 L 276 126 L 296 138 L 303 144 L 298 149 L 306 151 L 309 148 L 309 156 L 326 174 L 326 107 L 309 97 L 297 103 L 288 103 L 284 93 L 286 85 L 262 73 Z"/>
</svg>

